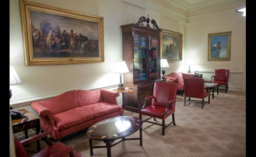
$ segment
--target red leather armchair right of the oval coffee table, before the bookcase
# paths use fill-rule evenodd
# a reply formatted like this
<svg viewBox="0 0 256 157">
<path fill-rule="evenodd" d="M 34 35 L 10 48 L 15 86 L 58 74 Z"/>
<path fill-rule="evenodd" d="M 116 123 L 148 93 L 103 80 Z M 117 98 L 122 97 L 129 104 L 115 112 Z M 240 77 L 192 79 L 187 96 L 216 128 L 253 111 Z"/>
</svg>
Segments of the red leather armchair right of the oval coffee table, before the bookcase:
<svg viewBox="0 0 256 157">
<path fill-rule="evenodd" d="M 149 116 L 143 122 L 153 123 L 159 126 L 162 126 L 162 135 L 165 135 L 165 129 L 170 126 L 172 123 L 175 124 L 175 102 L 176 102 L 176 83 L 168 82 L 155 82 L 153 96 L 145 98 L 144 106 L 139 110 L 139 117 L 142 120 L 142 115 Z M 152 99 L 151 106 L 147 106 L 147 101 Z M 172 115 L 172 121 L 165 125 L 165 120 L 167 117 Z M 161 123 L 149 121 L 151 118 L 159 118 L 162 120 Z"/>
</svg>

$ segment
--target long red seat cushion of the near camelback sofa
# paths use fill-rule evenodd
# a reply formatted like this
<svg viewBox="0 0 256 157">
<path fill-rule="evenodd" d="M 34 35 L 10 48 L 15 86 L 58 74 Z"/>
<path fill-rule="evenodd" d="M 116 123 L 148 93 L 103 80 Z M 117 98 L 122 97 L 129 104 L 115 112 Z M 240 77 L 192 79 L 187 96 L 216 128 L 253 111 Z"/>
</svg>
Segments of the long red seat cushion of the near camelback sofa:
<svg viewBox="0 0 256 157">
<path fill-rule="evenodd" d="M 116 111 L 120 111 L 120 106 L 107 102 L 100 102 L 57 113 L 56 115 L 53 115 L 53 119 L 54 123 L 56 123 L 56 126 L 61 131 Z"/>
</svg>

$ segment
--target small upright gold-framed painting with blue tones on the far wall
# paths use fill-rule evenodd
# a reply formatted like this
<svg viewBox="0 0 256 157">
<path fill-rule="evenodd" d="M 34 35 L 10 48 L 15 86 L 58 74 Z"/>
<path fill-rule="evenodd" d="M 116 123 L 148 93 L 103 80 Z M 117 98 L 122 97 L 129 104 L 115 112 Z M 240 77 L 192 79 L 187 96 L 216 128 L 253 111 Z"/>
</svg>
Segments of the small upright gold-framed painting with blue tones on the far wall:
<svg viewBox="0 0 256 157">
<path fill-rule="evenodd" d="M 208 61 L 230 60 L 231 32 L 208 34 Z"/>
</svg>

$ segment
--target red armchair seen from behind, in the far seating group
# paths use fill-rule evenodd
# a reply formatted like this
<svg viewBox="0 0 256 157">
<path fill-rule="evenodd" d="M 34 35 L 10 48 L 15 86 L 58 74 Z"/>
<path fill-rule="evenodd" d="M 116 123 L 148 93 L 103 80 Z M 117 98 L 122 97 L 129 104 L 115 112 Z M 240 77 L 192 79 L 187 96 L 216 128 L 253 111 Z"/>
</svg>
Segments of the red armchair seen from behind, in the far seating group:
<svg viewBox="0 0 256 157">
<path fill-rule="evenodd" d="M 189 77 L 184 78 L 184 86 L 185 86 L 185 92 L 184 92 L 184 106 L 186 106 L 186 102 L 200 102 L 202 103 L 202 109 L 204 108 L 204 104 L 210 103 L 210 93 L 207 91 L 207 86 L 204 87 L 204 79 L 203 78 L 196 78 L 196 77 Z M 189 97 L 186 100 L 186 97 Z M 204 98 L 208 97 L 208 101 L 204 101 Z M 191 99 L 191 98 L 197 98 L 202 99 L 201 101 L 197 99 Z"/>
</svg>

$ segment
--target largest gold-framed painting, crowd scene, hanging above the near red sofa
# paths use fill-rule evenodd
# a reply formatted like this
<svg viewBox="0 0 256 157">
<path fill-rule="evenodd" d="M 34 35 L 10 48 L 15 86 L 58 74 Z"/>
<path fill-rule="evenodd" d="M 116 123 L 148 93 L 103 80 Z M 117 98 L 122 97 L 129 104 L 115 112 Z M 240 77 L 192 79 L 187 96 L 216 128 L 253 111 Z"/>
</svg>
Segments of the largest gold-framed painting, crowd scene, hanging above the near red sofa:
<svg viewBox="0 0 256 157">
<path fill-rule="evenodd" d="M 104 62 L 103 17 L 20 0 L 25 66 Z"/>
</svg>

